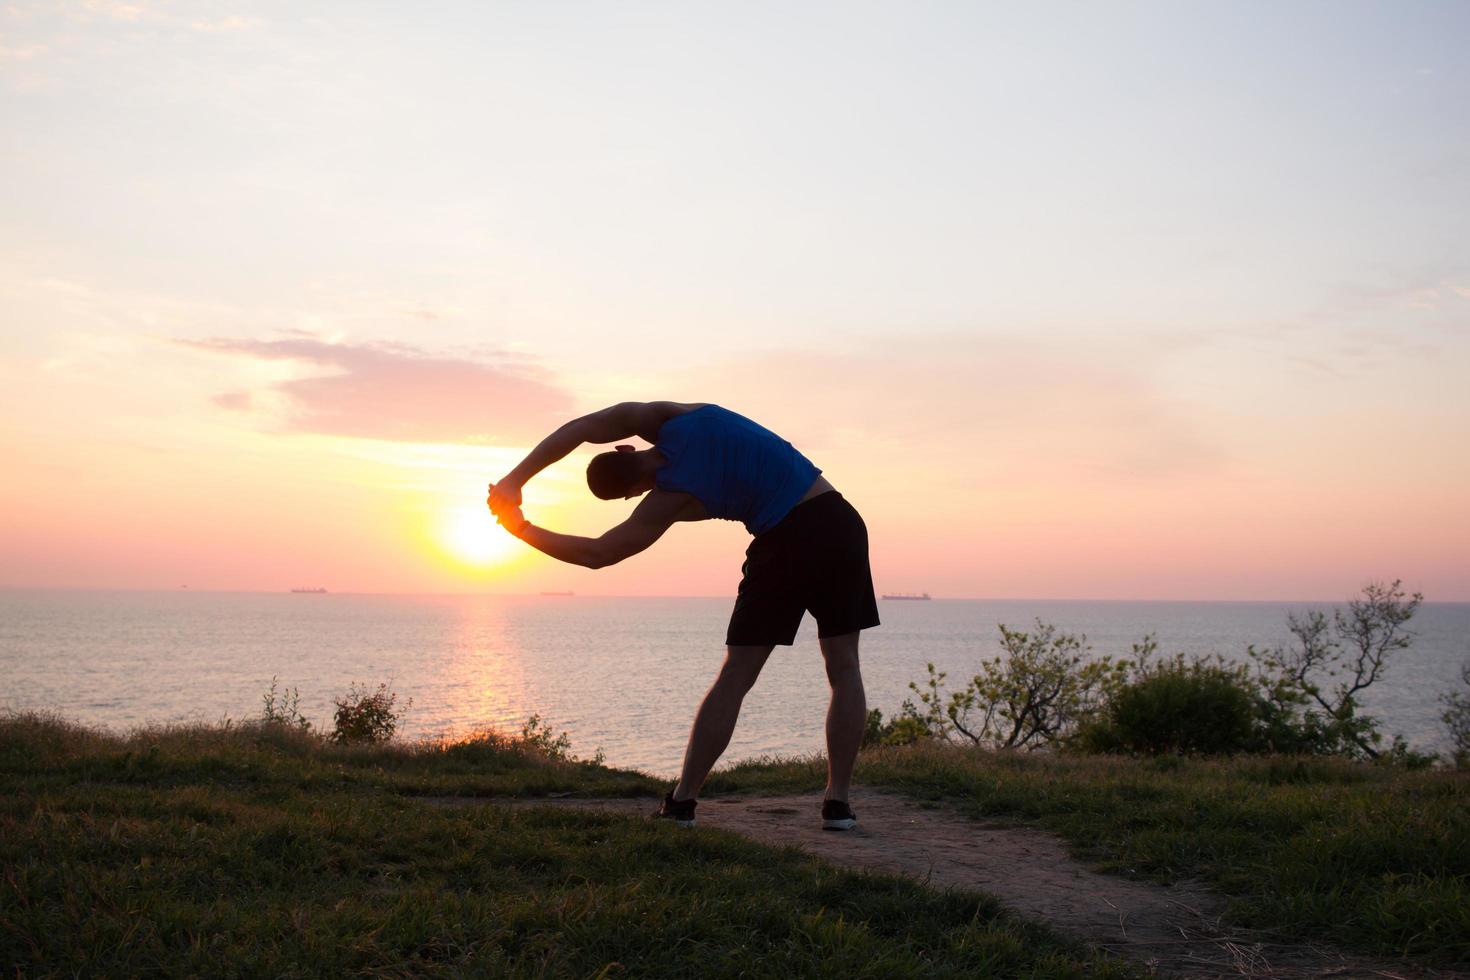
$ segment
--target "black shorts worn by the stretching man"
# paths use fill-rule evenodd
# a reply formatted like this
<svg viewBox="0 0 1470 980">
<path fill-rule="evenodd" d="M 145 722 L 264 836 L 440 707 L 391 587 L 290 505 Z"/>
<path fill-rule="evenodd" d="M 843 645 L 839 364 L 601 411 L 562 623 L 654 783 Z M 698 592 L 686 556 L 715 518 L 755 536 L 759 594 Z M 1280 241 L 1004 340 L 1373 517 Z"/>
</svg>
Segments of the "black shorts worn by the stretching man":
<svg viewBox="0 0 1470 980">
<path fill-rule="evenodd" d="M 867 525 L 836 491 L 797 504 L 745 550 L 729 646 L 789 646 L 811 610 L 817 636 L 878 626 Z"/>
</svg>

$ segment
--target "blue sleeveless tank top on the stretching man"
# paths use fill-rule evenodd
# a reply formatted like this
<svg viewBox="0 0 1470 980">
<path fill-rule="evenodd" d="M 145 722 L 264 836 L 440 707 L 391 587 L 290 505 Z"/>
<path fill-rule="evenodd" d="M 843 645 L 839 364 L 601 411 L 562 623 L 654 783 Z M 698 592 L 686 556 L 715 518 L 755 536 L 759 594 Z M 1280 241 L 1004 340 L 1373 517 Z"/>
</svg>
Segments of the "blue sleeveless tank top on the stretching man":
<svg viewBox="0 0 1470 980">
<path fill-rule="evenodd" d="M 738 520 L 753 535 L 785 517 L 822 472 L 770 429 L 704 406 L 663 423 L 654 448 L 667 463 L 659 489 L 692 494 L 710 517 Z"/>
</svg>

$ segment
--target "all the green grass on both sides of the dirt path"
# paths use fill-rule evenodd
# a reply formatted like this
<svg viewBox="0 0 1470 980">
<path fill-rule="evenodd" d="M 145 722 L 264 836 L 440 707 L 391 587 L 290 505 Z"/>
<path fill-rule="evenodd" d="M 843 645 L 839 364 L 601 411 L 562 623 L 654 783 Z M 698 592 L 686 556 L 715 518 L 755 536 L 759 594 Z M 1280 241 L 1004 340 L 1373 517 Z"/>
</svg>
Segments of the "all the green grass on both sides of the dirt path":
<svg viewBox="0 0 1470 980">
<path fill-rule="evenodd" d="M 1205 879 L 1239 926 L 1470 965 L 1463 771 L 916 745 L 864 752 L 858 777 L 1048 827 L 1111 871 Z M 820 760 L 753 761 L 707 793 L 823 779 Z M 0 789 L 0 962 L 22 976 L 1133 976 L 983 896 L 711 830 L 445 805 L 664 789 L 517 738 L 348 748 L 16 714 Z"/>
</svg>

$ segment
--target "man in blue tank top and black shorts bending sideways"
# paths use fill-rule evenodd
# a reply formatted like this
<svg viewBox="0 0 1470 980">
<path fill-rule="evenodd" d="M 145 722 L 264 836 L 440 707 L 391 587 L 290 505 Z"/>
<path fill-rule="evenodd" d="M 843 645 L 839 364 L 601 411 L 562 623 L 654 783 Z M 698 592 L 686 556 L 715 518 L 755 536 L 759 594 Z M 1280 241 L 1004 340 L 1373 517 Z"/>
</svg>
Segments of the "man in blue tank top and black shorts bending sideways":
<svg viewBox="0 0 1470 980">
<path fill-rule="evenodd" d="M 641 436 L 592 458 L 587 485 L 601 500 L 644 497 L 623 523 L 600 538 L 559 535 L 520 513 L 520 488 L 584 442 Z M 573 419 L 542 439 L 490 488 L 495 519 L 516 538 L 560 561 L 601 569 L 638 554 L 678 520 L 738 520 L 754 535 L 719 676 L 694 716 L 679 783 L 660 817 L 694 826 L 704 779 L 729 745 L 745 693 L 778 645 L 795 642 L 804 611 L 817 620 L 832 704 L 826 717 L 828 785 L 822 826 L 850 830 L 853 764 L 867 721 L 860 630 L 878 626 L 863 519 L 822 470 L 775 432 L 713 404 L 625 401 Z"/>
</svg>

